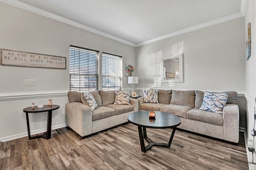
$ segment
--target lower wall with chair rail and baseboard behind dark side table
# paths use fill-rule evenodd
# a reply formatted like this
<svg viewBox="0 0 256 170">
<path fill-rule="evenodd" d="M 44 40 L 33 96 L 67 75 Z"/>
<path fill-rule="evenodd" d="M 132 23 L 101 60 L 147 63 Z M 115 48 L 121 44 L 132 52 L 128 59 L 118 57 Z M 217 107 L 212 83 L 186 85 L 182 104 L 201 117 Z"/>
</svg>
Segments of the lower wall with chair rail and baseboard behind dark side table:
<svg viewBox="0 0 256 170">
<path fill-rule="evenodd" d="M 66 127 L 65 115 L 62 114 L 62 110 L 68 103 L 68 91 L 0 93 L 0 141 L 5 142 L 28 136 L 26 114 L 23 109 L 30 107 L 31 102 L 35 102 L 37 105 L 38 100 L 47 104 L 48 99 L 51 98 L 53 104 L 60 106 L 59 109 L 52 112 L 52 130 Z M 47 114 L 29 113 L 29 117 L 32 135 L 46 131 Z"/>
</svg>

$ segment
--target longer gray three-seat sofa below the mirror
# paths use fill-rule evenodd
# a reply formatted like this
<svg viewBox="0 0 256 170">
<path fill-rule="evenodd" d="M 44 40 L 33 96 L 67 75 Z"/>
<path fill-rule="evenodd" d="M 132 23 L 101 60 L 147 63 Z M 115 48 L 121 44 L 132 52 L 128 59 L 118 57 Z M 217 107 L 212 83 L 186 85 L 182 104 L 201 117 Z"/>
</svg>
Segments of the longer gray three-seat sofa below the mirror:
<svg viewBox="0 0 256 170">
<path fill-rule="evenodd" d="M 140 111 L 164 111 L 181 119 L 180 129 L 223 139 L 233 143 L 239 141 L 239 108 L 237 93 L 228 92 L 222 114 L 200 110 L 204 92 L 199 90 L 158 90 L 159 103 L 143 103 L 140 97 Z"/>
</svg>

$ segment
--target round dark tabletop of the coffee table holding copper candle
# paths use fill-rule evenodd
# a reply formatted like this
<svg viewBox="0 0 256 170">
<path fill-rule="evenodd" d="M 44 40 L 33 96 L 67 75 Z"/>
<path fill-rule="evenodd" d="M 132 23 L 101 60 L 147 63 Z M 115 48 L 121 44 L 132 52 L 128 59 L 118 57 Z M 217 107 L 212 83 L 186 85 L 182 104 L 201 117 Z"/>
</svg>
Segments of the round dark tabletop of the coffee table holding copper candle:
<svg viewBox="0 0 256 170">
<path fill-rule="evenodd" d="M 148 116 L 149 111 L 137 111 L 131 113 L 128 115 L 128 121 L 137 126 L 153 129 L 173 128 L 181 123 L 180 117 L 176 115 L 162 111 L 154 112 L 156 112 L 156 117 L 153 119 Z"/>
</svg>

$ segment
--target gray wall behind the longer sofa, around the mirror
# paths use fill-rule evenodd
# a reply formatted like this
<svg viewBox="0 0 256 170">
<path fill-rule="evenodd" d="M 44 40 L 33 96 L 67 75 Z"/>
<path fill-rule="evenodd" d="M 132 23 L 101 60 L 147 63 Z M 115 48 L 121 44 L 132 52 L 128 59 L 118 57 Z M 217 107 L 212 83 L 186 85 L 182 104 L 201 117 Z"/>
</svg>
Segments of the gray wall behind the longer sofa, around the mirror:
<svg viewBox="0 0 256 170">
<path fill-rule="evenodd" d="M 183 83 L 162 83 L 162 89 L 209 90 L 221 92 L 245 91 L 245 31 L 244 17 L 219 23 L 161 41 L 136 47 L 139 83 L 137 89 L 149 88 L 154 77 L 148 76 L 147 56 L 161 51 L 163 57 L 173 54 L 172 45 L 183 46 Z M 181 44 L 182 44 L 181 43 Z M 255 66 L 253 67 L 255 68 Z M 255 73 L 255 72 L 254 72 Z M 253 73 L 253 74 L 254 74 Z M 238 98 L 240 127 L 245 128 L 246 100 Z"/>
</svg>

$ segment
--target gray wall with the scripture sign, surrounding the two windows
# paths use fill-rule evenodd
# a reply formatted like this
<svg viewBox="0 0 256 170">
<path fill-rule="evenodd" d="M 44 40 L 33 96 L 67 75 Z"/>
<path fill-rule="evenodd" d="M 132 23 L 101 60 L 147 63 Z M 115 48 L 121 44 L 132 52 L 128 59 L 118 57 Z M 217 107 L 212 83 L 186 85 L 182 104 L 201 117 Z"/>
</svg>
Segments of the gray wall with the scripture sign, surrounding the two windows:
<svg viewBox="0 0 256 170">
<path fill-rule="evenodd" d="M 60 105 L 60 109 L 53 113 L 52 126 L 65 126 L 62 109 L 68 100 L 62 93 L 69 91 L 70 45 L 98 50 L 100 56 L 102 52 L 120 55 L 123 68 L 125 63 L 136 64 L 135 47 L 4 2 L 0 2 L 0 23 L 0 48 L 67 59 L 66 70 L 0 65 L 0 141 L 11 139 L 11 135 L 26 136 L 23 108 L 30 107 L 31 102 L 37 105 L 40 100 L 47 104 L 48 98 L 53 99 L 53 104 Z M 25 86 L 25 79 L 35 79 L 36 86 Z M 123 73 L 123 88 L 130 88 L 127 82 Z M 17 97 L 9 100 L 9 96 Z M 44 131 L 46 118 L 46 114 L 30 114 L 31 130 L 34 133 Z"/>
</svg>

